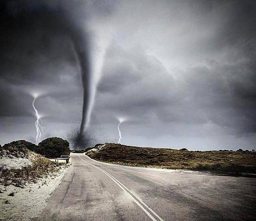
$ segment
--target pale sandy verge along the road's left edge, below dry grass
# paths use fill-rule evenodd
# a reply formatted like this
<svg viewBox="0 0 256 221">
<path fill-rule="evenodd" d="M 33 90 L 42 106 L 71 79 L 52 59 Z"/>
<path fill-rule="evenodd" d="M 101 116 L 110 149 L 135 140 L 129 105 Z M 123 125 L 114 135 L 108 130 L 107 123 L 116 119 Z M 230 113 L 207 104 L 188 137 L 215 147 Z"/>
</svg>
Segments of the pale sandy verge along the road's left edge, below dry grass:
<svg viewBox="0 0 256 221">
<path fill-rule="evenodd" d="M 13 185 L 0 185 L 0 221 L 28 221 L 46 206 L 50 194 L 61 183 L 68 167 L 63 167 L 56 176 L 39 179 L 24 189 Z M 14 192 L 14 196 L 8 194 Z M 6 200 L 8 203 L 6 203 Z"/>
</svg>

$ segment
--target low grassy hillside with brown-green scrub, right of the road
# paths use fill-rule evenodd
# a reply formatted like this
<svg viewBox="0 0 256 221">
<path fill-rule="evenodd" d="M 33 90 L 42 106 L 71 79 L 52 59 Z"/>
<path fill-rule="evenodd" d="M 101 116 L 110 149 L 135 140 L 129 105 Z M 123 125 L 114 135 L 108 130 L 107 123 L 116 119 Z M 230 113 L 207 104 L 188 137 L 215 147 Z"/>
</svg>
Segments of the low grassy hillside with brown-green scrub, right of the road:
<svg viewBox="0 0 256 221">
<path fill-rule="evenodd" d="M 256 153 L 251 151 L 182 151 L 132 147 L 106 143 L 86 155 L 98 161 L 121 165 L 188 169 L 218 173 L 256 173 Z"/>
</svg>

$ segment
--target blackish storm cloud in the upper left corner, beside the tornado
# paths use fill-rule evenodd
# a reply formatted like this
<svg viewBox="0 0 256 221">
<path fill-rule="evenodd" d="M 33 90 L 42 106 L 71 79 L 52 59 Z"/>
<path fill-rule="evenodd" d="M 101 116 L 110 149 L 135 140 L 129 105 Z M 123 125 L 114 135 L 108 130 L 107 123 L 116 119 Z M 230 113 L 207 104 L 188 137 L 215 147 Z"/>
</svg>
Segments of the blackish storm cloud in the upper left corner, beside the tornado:
<svg viewBox="0 0 256 221">
<path fill-rule="evenodd" d="M 17 104 L 15 101 L 21 97 L 24 101 L 19 93 L 24 95 L 27 87 L 46 86 L 47 90 L 49 84 L 52 87 L 62 84 L 64 74 L 60 72 L 65 72 L 64 67 L 67 64 L 77 66 L 70 42 L 71 24 L 64 11 L 38 1 L 30 2 L 29 7 L 27 1 L 6 1 L 1 3 L 1 12 L 0 27 L 4 30 L 0 37 L 2 94 L 8 94 L 8 101 Z M 78 71 L 74 71 L 75 74 L 69 75 L 78 78 Z M 15 90 L 15 86 L 23 90 Z M 7 102 L 1 115 L 10 110 L 18 114 L 20 109 Z M 24 109 L 28 106 L 25 103 Z M 20 106 L 23 109 L 22 104 Z"/>
</svg>

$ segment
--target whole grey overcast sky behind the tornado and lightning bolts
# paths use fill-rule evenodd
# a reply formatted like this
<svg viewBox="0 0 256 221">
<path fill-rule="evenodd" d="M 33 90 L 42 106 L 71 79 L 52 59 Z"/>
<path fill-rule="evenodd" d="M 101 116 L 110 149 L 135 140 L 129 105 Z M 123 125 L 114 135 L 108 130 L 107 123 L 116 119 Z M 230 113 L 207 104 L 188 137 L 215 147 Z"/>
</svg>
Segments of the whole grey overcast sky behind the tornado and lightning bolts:
<svg viewBox="0 0 256 221">
<path fill-rule="evenodd" d="M 79 33 L 93 79 L 91 144 L 118 142 L 124 117 L 126 145 L 255 149 L 255 1 L 0 4 L 0 144 L 35 143 L 33 92 L 42 139 L 72 141 L 82 117 Z"/>
</svg>

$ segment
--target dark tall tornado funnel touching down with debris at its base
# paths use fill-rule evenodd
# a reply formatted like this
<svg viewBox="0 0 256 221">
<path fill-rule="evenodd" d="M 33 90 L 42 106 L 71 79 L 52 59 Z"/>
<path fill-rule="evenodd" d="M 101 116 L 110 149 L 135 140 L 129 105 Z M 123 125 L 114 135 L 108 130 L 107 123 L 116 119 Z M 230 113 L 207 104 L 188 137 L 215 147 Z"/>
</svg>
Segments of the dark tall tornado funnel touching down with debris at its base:
<svg viewBox="0 0 256 221">
<path fill-rule="evenodd" d="M 56 14 L 58 16 L 56 16 Z M 85 30 L 83 22 L 78 22 L 76 18 L 68 16 L 62 9 L 58 9 L 54 13 L 54 19 L 50 26 L 52 32 L 58 32 L 70 39 L 72 49 L 76 55 L 76 60 L 80 69 L 80 78 L 82 84 L 82 117 L 78 131 L 71 139 L 74 141 L 74 148 L 81 149 L 87 145 L 85 134 L 86 126 L 89 123 L 90 117 L 90 104 L 92 102 L 91 90 L 91 67 L 90 67 L 90 47 L 89 47 L 89 34 Z M 49 28 L 49 27 L 47 27 Z"/>
</svg>

